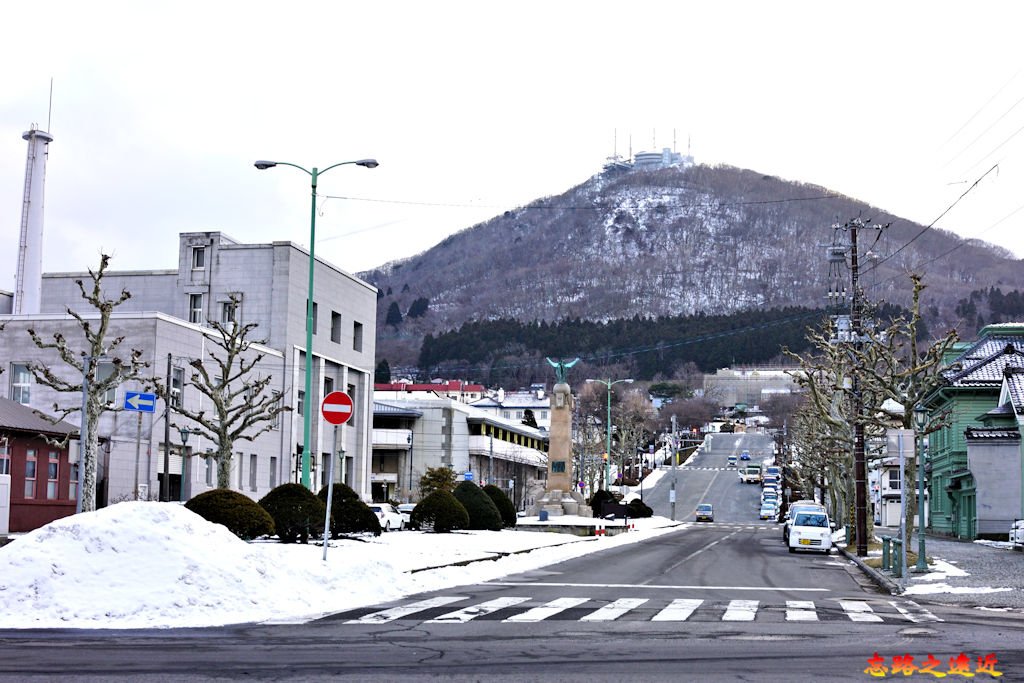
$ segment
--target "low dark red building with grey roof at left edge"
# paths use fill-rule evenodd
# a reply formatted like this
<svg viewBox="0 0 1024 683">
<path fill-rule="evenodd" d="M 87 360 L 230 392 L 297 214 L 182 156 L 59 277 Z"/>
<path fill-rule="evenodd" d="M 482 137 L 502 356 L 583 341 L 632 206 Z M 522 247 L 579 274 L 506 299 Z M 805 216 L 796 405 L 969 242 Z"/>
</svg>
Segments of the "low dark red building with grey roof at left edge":
<svg viewBox="0 0 1024 683">
<path fill-rule="evenodd" d="M 0 475 L 10 476 L 10 532 L 75 514 L 78 464 L 70 462 L 67 447 L 51 445 L 47 437 L 77 432 L 75 425 L 52 424 L 27 405 L 0 398 Z"/>
</svg>

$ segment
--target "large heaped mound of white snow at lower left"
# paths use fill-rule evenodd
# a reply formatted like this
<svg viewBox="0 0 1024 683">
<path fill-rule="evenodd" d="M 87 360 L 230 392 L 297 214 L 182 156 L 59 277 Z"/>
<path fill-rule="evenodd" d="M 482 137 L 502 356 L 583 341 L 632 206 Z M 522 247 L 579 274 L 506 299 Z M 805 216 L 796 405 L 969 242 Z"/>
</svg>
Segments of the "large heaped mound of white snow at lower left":
<svg viewBox="0 0 1024 683">
<path fill-rule="evenodd" d="M 0 627 L 217 626 L 316 614 L 331 609 L 332 595 L 357 593 L 368 575 L 388 577 L 400 595 L 402 574 L 386 562 L 335 566 L 317 561 L 322 552 L 250 545 L 175 504 L 120 503 L 0 550 Z M 371 599 L 380 593 L 374 587 Z"/>
</svg>

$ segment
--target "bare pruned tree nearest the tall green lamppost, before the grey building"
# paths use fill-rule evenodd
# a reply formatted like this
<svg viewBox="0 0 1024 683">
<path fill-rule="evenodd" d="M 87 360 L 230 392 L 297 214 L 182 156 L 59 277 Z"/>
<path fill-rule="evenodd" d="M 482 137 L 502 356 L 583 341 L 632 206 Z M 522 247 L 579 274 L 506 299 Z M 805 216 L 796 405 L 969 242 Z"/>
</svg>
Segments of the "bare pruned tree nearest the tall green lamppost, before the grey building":
<svg viewBox="0 0 1024 683">
<path fill-rule="evenodd" d="M 237 309 L 234 297 L 231 303 Z M 273 429 L 279 416 L 292 408 L 283 404 L 280 391 L 267 390 L 272 376 L 253 372 L 263 360 L 263 353 L 251 352 L 252 346 L 266 343 L 248 338 L 257 324 L 208 323 L 216 332 L 215 337 L 211 335 L 214 348 L 207 352 L 208 358 L 193 358 L 188 365 L 193 369 L 190 385 L 210 399 L 213 409 L 193 411 L 181 401 L 175 410 L 197 423 L 199 433 L 217 444 L 213 456 L 217 463 L 217 487 L 228 488 L 234 442 L 255 440 Z M 213 373 L 207 369 L 210 362 L 216 369 Z M 154 378 L 153 382 L 157 394 L 170 400 L 169 387 L 160 378 Z"/>
</svg>

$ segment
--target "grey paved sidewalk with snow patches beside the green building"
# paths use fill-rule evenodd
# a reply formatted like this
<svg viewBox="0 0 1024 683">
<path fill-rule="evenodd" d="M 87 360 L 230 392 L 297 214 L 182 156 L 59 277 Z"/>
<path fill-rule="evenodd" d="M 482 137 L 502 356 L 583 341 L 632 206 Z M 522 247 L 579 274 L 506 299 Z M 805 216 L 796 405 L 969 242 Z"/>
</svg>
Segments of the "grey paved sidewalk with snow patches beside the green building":
<svg viewBox="0 0 1024 683">
<path fill-rule="evenodd" d="M 874 532 L 877 537 L 895 536 L 896 529 L 876 527 Z M 911 542 L 916 550 L 916 535 Z M 892 593 L 940 604 L 1024 612 L 1024 553 L 1012 550 L 1009 543 L 926 535 L 925 550 L 929 572 L 908 570 L 902 579 L 863 566 L 852 552 L 845 552 Z"/>
</svg>

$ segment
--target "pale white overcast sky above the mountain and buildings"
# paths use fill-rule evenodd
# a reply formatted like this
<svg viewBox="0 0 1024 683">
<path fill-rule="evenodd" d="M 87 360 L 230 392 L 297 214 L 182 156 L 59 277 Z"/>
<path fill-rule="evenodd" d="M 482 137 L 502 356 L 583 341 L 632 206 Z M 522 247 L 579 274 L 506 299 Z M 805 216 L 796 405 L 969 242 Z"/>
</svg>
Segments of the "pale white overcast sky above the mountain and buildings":
<svg viewBox="0 0 1024 683">
<path fill-rule="evenodd" d="M 308 177 L 257 159 L 380 161 L 319 180 L 316 253 L 359 271 L 665 146 L 924 224 L 984 176 L 937 226 L 1024 257 L 1022 19 L 985 0 L 5 3 L 0 289 L 34 123 L 54 137 L 47 272 L 101 251 L 172 268 L 187 230 L 306 246 Z"/>
</svg>

